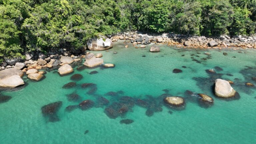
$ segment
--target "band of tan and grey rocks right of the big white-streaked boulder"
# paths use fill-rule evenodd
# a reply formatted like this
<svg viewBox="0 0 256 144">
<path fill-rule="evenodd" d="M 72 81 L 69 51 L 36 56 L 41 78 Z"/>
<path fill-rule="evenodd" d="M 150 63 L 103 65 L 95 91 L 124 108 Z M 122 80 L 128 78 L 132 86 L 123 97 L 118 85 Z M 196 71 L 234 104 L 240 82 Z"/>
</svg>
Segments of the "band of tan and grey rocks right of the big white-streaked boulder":
<svg viewBox="0 0 256 144">
<path fill-rule="evenodd" d="M 166 43 L 168 45 L 176 46 L 189 46 L 198 48 L 208 47 L 245 47 L 256 49 L 256 37 L 242 37 L 234 36 L 220 36 L 218 38 L 211 38 L 205 36 L 187 36 L 172 33 L 157 34 L 140 34 L 139 32 L 126 32 L 111 37 L 111 40 L 129 40 L 133 45 L 142 44 L 147 45 L 150 43 Z"/>
</svg>

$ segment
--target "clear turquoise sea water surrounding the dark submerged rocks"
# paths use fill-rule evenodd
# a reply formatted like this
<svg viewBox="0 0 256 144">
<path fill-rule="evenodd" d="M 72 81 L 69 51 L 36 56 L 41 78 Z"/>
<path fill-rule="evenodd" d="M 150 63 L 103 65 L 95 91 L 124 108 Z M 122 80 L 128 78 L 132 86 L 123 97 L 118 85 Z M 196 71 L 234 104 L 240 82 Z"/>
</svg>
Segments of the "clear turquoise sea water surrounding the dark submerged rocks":
<svg viewBox="0 0 256 144">
<path fill-rule="evenodd" d="M 251 79 L 256 76 L 255 50 L 188 50 L 160 45 L 161 52 L 151 53 L 150 46 L 135 49 L 131 45 L 124 48 L 124 45 L 120 41 L 109 51 L 101 51 L 104 62 L 114 63 L 115 68 L 78 71 L 76 68 L 82 65 L 82 62 L 78 62 L 73 65 L 75 71 L 70 75 L 61 77 L 57 70 L 51 70 L 40 82 L 32 82 L 24 76 L 27 82 L 24 88 L 1 91 L 2 95 L 12 98 L 0 103 L 0 143 L 256 143 L 255 87 L 245 86 L 245 82 L 256 84 Z M 204 52 L 211 53 L 211 59 Z M 224 56 L 223 52 L 228 55 Z M 191 57 L 200 63 L 192 61 Z M 215 70 L 218 74 L 206 73 L 206 69 L 214 69 L 215 66 L 223 71 Z M 175 68 L 183 72 L 173 73 Z M 98 73 L 91 75 L 91 71 Z M 64 84 L 72 82 L 70 77 L 73 74 L 81 74 L 83 79 L 76 81 L 76 87 L 63 89 Z M 211 85 L 212 79 L 217 77 L 234 81 L 232 87 L 239 92 L 240 99 L 216 98 Z M 82 83 L 96 84 L 97 91 L 93 95 L 87 94 L 89 89 L 82 89 Z M 185 97 L 186 90 L 205 93 L 215 102 L 206 108 L 185 98 L 185 109 L 169 109 L 162 105 L 159 98 L 165 93 L 163 89 L 169 90 L 170 95 L 181 97 Z M 119 96 L 104 95 L 120 90 L 124 93 Z M 66 95 L 71 93 L 80 95 L 81 100 L 68 101 Z M 147 116 L 147 109 L 135 104 L 125 115 L 115 119 L 104 112 L 110 104 L 84 111 L 79 108 L 72 112 L 65 111 L 65 107 L 78 105 L 86 99 L 94 101 L 96 105 L 97 98 L 101 96 L 108 99 L 110 104 L 121 96 L 140 98 L 158 105 L 162 111 Z M 41 107 L 57 101 L 62 101 L 57 112 L 59 121 L 49 122 L 48 117 L 42 115 Z M 153 106 L 152 109 L 155 108 Z M 120 124 L 122 119 L 132 119 L 134 122 Z M 84 134 L 86 130 L 89 132 Z"/>
</svg>

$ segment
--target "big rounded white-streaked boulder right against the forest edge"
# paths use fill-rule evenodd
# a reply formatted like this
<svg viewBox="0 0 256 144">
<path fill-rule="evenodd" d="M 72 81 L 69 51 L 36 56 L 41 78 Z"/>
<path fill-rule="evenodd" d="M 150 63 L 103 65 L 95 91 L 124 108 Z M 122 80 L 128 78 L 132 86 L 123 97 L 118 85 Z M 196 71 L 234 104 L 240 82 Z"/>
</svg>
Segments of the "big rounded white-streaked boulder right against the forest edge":
<svg viewBox="0 0 256 144">
<path fill-rule="evenodd" d="M 87 48 L 92 51 L 107 50 L 113 47 L 113 42 L 105 36 L 92 38 L 88 40 L 86 44 Z"/>
</svg>

